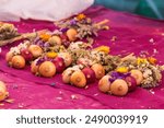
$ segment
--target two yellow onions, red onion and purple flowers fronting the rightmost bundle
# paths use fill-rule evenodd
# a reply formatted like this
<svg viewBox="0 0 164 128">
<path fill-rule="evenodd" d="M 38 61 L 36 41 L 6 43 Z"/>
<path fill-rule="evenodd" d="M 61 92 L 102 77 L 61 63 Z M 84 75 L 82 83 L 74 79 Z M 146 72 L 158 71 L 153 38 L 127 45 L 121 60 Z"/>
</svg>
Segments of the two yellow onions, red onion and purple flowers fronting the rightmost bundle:
<svg viewBox="0 0 164 128">
<path fill-rule="evenodd" d="M 129 73 L 113 72 L 104 75 L 98 82 L 101 92 L 117 96 L 124 96 L 128 92 L 134 91 L 136 88 L 137 80 Z"/>
</svg>

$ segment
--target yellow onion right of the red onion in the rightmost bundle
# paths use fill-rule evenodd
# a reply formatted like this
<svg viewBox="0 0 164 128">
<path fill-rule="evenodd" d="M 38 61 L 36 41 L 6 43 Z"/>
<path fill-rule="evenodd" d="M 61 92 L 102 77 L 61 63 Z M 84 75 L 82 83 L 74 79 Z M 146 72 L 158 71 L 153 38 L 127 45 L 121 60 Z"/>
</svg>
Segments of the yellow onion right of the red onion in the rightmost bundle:
<svg viewBox="0 0 164 128">
<path fill-rule="evenodd" d="M 143 81 L 143 74 L 140 70 L 131 70 L 131 77 L 133 77 L 137 81 L 137 84 L 140 85 Z"/>
</svg>

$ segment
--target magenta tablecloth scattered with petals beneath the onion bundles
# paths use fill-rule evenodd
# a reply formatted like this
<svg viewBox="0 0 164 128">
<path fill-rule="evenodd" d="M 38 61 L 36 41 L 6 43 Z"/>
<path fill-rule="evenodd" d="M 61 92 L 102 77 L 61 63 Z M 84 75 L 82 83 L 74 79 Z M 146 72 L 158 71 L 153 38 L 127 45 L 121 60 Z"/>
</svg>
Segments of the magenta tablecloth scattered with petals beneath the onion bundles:
<svg viewBox="0 0 164 128">
<path fill-rule="evenodd" d="M 129 13 L 115 12 L 102 7 L 92 7 L 85 14 L 94 21 L 108 19 L 110 30 L 99 33 L 94 46 L 108 45 L 112 55 L 127 55 L 147 51 L 164 63 L 164 22 L 153 21 Z M 21 21 L 14 23 L 20 32 L 54 30 L 50 22 Z M 116 36 L 117 39 L 112 42 Z M 15 43 L 14 45 L 16 45 Z M 10 98 L 14 103 L 0 104 L 0 108 L 164 108 L 164 79 L 159 88 L 141 89 L 127 96 L 117 97 L 103 94 L 97 90 L 97 82 L 87 90 L 62 84 L 61 75 L 51 79 L 36 78 L 26 67 L 25 70 L 9 68 L 4 55 L 9 48 L 2 47 L 0 56 L 0 79 L 8 83 Z M 75 97 L 75 98 L 74 98 Z"/>
</svg>

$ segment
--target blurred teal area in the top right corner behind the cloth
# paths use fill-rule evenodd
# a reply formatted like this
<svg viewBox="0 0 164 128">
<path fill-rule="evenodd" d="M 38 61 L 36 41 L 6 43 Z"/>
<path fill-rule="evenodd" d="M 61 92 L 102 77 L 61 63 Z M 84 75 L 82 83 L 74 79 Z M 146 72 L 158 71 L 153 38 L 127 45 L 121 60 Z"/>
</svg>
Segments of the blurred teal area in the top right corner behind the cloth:
<svg viewBox="0 0 164 128">
<path fill-rule="evenodd" d="M 164 20 L 164 0 L 95 0 L 94 4 Z"/>
</svg>

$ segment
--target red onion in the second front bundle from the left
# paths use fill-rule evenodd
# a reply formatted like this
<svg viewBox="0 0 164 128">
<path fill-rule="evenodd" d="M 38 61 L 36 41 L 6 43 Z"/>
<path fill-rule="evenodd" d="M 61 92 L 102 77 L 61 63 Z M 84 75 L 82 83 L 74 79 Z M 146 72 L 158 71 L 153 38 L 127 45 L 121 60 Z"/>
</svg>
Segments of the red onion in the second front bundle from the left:
<svg viewBox="0 0 164 128">
<path fill-rule="evenodd" d="M 56 57 L 52 62 L 56 66 L 57 73 L 61 73 L 65 70 L 66 66 L 61 57 Z"/>
</svg>

